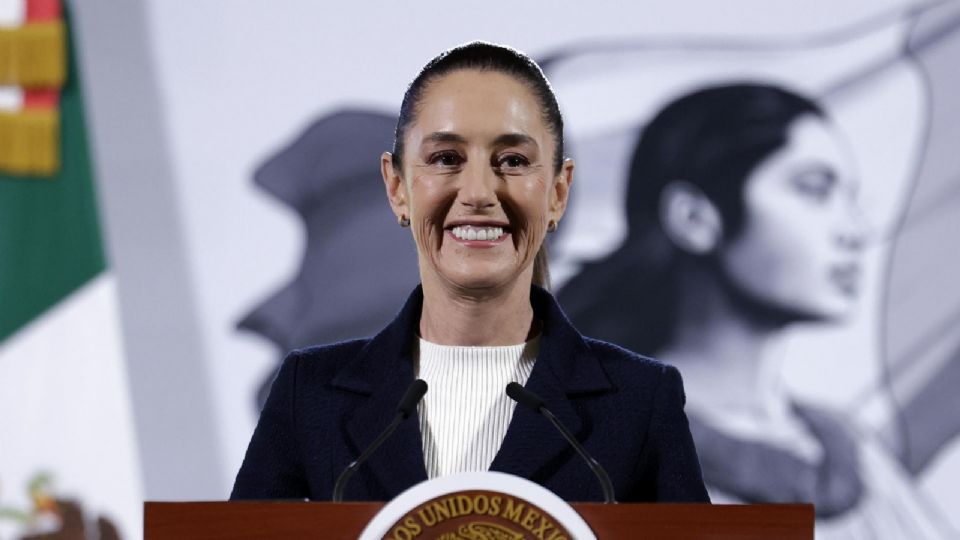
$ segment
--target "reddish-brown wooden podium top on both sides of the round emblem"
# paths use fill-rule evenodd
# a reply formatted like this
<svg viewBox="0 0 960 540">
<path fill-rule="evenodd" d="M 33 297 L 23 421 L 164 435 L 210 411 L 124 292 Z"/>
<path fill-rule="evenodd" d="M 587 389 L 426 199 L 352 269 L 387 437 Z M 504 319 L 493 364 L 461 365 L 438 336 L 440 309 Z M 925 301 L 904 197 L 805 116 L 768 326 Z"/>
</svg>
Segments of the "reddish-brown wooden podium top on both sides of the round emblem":
<svg viewBox="0 0 960 540">
<path fill-rule="evenodd" d="M 813 539 L 810 504 L 573 503 L 597 538 Z M 383 503 L 147 502 L 146 540 L 355 539 Z"/>
</svg>

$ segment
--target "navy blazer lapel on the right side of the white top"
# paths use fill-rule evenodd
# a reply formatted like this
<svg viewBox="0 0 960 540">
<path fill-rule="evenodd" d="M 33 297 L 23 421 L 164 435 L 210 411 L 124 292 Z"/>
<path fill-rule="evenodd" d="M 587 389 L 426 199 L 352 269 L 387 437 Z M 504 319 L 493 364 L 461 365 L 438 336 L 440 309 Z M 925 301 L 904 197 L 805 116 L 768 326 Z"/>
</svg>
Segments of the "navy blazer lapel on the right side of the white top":
<svg viewBox="0 0 960 540">
<path fill-rule="evenodd" d="M 549 293 L 531 292 L 531 303 L 543 321 L 540 354 L 526 388 L 543 399 L 546 407 L 581 442 L 589 436 L 575 408 L 578 395 L 612 389 L 599 361 Z M 576 451 L 543 415 L 518 405 L 500 451 L 490 470 L 544 482 L 560 463 L 575 458 Z"/>
</svg>

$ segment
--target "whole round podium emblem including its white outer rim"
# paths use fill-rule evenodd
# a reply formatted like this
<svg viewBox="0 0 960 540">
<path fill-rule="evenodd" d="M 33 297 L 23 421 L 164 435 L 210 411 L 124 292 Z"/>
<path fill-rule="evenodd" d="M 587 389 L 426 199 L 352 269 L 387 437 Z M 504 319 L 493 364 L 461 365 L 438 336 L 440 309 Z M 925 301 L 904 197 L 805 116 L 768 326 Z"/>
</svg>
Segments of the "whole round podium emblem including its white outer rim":
<svg viewBox="0 0 960 540">
<path fill-rule="evenodd" d="M 571 540 L 595 536 L 553 492 L 497 472 L 423 482 L 383 507 L 361 540 Z"/>
</svg>

